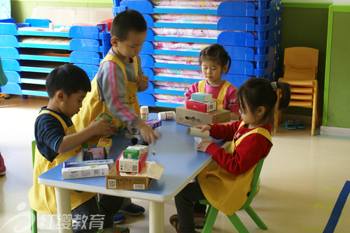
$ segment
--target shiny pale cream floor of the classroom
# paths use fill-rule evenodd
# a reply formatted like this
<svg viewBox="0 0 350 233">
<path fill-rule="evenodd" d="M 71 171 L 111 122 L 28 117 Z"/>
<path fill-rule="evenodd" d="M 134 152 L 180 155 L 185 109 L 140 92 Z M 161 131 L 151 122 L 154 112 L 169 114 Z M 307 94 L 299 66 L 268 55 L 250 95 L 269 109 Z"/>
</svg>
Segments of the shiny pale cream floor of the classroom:
<svg viewBox="0 0 350 233">
<path fill-rule="evenodd" d="M 0 232 L 30 232 L 27 193 L 32 183 L 31 148 L 34 121 L 47 98 L 11 96 L 0 98 L 0 150 L 6 176 L 0 176 Z M 348 139 L 311 137 L 310 128 L 285 130 L 273 135 L 274 147 L 260 176 L 260 193 L 251 206 L 269 227 L 263 231 L 246 215 L 238 213 L 250 232 L 322 232 L 344 183 L 350 180 Z M 148 232 L 148 202 L 133 200 L 146 208 L 139 217 L 128 216 L 123 225 L 132 233 Z M 350 208 L 345 204 L 335 232 L 350 232 Z M 165 203 L 165 232 L 175 232 L 168 219 L 176 213 L 174 201 Z M 39 232 L 58 232 L 55 218 L 38 215 Z M 236 232 L 219 213 L 213 232 Z M 152 232 L 157 233 L 157 232 Z"/>
</svg>

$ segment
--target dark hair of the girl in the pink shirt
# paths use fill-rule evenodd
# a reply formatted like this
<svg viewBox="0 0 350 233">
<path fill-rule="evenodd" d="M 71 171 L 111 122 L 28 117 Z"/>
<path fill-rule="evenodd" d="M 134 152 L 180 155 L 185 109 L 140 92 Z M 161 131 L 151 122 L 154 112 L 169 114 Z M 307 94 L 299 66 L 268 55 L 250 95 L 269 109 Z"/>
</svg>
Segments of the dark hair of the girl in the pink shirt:
<svg viewBox="0 0 350 233">
<path fill-rule="evenodd" d="M 204 60 L 216 61 L 221 67 L 228 64 L 228 70 L 230 70 L 231 67 L 231 57 L 223 48 L 223 45 L 213 44 L 202 50 L 200 52 L 201 65 Z M 226 71 L 226 73 L 228 73 L 228 71 Z"/>
</svg>

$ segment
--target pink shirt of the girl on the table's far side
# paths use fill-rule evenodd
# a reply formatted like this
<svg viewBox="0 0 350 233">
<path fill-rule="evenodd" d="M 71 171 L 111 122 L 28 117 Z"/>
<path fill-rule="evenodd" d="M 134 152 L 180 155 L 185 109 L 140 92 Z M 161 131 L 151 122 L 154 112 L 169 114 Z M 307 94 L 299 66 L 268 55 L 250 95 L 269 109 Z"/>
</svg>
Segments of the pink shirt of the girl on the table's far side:
<svg viewBox="0 0 350 233">
<path fill-rule="evenodd" d="M 228 82 L 225 80 L 225 82 Z M 213 95 L 213 98 L 218 98 L 218 94 L 223 87 L 223 82 L 219 86 L 210 86 L 207 82 L 205 82 L 205 93 L 211 93 Z M 195 82 L 190 87 L 188 87 L 188 91 L 186 92 L 186 100 L 189 100 L 191 98 L 191 94 L 198 92 L 198 82 Z M 230 112 L 239 114 L 239 105 L 236 98 L 237 88 L 233 86 L 232 84 L 230 87 L 228 87 L 228 90 L 225 93 L 225 98 L 223 99 L 223 109 L 224 110 L 230 110 Z"/>
</svg>

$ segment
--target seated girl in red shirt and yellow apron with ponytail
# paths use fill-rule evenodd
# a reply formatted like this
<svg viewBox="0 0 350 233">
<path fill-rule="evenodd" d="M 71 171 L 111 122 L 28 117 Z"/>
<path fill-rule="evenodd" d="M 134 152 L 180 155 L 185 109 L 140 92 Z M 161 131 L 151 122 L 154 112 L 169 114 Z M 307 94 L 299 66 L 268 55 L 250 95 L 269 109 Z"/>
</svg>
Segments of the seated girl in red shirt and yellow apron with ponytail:
<svg viewBox="0 0 350 233">
<path fill-rule="evenodd" d="M 170 217 L 176 232 L 194 233 L 193 202 L 207 199 L 219 211 L 232 215 L 246 201 L 250 181 L 237 190 L 237 177 L 249 176 L 259 160 L 265 158 L 272 147 L 271 123 L 277 101 L 276 91 L 281 89 L 278 109 L 289 105 L 290 85 L 283 82 L 269 82 L 264 78 L 247 80 L 237 92 L 241 119 L 231 124 L 195 126 L 218 140 L 232 141 L 229 153 L 216 143 L 201 142 L 198 151 L 210 153 L 216 163 L 211 163 L 197 176 L 197 182 L 188 185 L 175 196 L 178 216 Z M 241 184 L 239 184 L 241 186 Z M 232 192 L 232 190 L 237 190 Z M 176 218 L 178 217 L 178 218 Z M 175 219 L 175 220 L 174 220 Z M 177 221 L 176 221 L 177 220 Z M 204 217 L 205 220 L 205 217 Z"/>
</svg>

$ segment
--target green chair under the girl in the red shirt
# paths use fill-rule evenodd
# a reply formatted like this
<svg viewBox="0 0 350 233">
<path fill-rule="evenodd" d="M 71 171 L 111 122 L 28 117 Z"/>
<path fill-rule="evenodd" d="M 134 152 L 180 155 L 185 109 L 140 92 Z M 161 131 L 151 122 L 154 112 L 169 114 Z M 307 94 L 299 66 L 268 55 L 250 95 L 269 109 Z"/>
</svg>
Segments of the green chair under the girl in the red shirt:
<svg viewBox="0 0 350 233">
<path fill-rule="evenodd" d="M 260 183 L 259 176 L 262 168 L 262 163 L 264 163 L 264 160 L 265 158 L 260 160 L 258 165 L 256 165 L 254 174 L 253 174 L 253 179 L 251 180 L 251 192 L 248 193 L 248 199 L 246 200 L 244 205 L 241 206 L 241 209 L 239 210 L 244 209 L 248 213 L 248 215 L 251 216 L 251 218 L 256 223 L 256 225 L 258 225 L 258 227 L 260 227 L 262 230 L 267 230 L 267 226 L 265 225 L 265 223 L 262 222 L 259 216 L 251 208 L 251 201 L 253 200 L 255 195 L 257 195 L 259 192 L 259 183 Z M 216 216 L 218 215 L 218 209 L 215 209 L 214 206 L 212 206 L 207 200 L 200 200 L 200 203 L 209 205 L 206 213 L 207 220 L 204 224 L 202 233 L 210 233 L 214 227 Z M 235 228 L 239 233 L 242 233 L 242 232 L 249 233 L 249 231 L 246 229 L 244 224 L 238 218 L 236 213 L 234 213 L 232 216 L 228 216 L 228 218 L 230 219 L 231 223 L 235 226 Z"/>
</svg>

